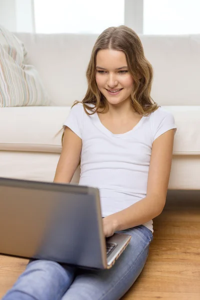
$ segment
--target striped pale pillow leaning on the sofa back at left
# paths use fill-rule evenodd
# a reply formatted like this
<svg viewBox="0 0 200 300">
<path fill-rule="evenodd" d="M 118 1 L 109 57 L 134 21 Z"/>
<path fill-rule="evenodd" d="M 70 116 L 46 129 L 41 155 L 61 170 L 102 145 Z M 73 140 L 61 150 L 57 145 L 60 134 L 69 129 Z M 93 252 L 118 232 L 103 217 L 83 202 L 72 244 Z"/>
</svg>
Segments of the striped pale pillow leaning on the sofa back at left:
<svg viewBox="0 0 200 300">
<path fill-rule="evenodd" d="M 37 70 L 26 61 L 23 43 L 0 26 L 0 107 L 49 104 Z"/>
</svg>

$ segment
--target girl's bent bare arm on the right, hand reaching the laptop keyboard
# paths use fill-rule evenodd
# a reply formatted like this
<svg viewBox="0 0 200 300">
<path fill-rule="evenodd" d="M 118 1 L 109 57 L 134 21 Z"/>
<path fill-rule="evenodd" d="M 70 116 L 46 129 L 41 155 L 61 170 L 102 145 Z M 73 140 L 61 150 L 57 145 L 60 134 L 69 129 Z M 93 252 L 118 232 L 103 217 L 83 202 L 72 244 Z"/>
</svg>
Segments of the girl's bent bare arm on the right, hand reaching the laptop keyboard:
<svg viewBox="0 0 200 300">
<path fill-rule="evenodd" d="M 117 230 L 143 224 L 159 215 L 164 207 L 171 169 L 174 129 L 157 137 L 152 144 L 146 197 L 103 218 L 105 236 Z"/>
</svg>

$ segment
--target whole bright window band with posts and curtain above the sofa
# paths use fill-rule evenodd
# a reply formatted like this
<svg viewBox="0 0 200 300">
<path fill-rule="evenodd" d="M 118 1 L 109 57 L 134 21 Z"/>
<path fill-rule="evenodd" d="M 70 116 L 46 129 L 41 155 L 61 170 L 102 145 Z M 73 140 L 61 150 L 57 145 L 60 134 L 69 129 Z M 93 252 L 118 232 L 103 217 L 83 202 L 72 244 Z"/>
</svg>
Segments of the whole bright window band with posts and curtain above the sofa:
<svg viewBox="0 0 200 300">
<path fill-rule="evenodd" d="M 2 26 L 36 33 L 99 34 L 125 24 L 138 34 L 198 34 L 199 13 L 200 0 L 0 0 Z"/>
</svg>

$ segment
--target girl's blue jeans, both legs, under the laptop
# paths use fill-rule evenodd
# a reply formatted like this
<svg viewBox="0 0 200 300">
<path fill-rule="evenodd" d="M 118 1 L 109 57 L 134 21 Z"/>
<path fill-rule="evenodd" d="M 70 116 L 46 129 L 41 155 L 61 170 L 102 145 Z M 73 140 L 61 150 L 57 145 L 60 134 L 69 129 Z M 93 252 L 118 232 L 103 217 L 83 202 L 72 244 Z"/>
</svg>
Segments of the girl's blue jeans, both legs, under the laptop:
<svg viewBox="0 0 200 300">
<path fill-rule="evenodd" d="M 123 230 L 132 238 L 110 269 L 87 270 L 49 260 L 27 264 L 3 300 L 117 300 L 140 274 L 152 232 L 143 225 Z"/>
</svg>

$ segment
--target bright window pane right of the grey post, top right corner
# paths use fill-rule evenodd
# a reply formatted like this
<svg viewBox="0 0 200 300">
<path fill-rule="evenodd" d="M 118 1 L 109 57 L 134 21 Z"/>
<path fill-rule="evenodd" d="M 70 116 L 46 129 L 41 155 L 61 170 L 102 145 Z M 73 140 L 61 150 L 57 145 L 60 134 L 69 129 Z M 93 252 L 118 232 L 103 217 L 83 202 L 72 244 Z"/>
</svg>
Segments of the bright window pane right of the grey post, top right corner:
<svg viewBox="0 0 200 300">
<path fill-rule="evenodd" d="M 143 33 L 200 33 L 199 13 L 199 0 L 143 0 Z"/>
</svg>

